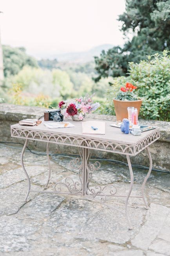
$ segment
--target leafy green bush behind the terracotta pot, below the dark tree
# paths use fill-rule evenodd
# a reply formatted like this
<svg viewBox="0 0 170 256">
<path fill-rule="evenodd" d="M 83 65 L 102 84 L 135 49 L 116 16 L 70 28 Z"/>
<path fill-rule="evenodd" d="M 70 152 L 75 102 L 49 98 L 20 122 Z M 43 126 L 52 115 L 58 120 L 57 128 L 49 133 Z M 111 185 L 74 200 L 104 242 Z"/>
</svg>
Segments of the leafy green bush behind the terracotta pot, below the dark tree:
<svg viewBox="0 0 170 256">
<path fill-rule="evenodd" d="M 112 99 L 126 82 L 137 86 L 136 94 L 143 98 L 140 117 L 170 121 L 170 56 L 168 51 L 148 56 L 139 64 L 130 62 L 129 76 L 114 78 L 107 91 L 103 113 L 114 115 Z"/>
</svg>

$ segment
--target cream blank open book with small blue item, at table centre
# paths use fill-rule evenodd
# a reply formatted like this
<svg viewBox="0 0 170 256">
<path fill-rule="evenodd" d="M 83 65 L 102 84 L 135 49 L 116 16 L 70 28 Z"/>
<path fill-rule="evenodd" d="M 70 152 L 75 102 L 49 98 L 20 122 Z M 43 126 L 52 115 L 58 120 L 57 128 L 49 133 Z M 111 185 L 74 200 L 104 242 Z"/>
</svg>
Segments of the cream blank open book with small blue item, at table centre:
<svg viewBox="0 0 170 256">
<path fill-rule="evenodd" d="M 105 134 L 105 122 L 86 121 L 82 122 L 83 134 Z"/>
</svg>

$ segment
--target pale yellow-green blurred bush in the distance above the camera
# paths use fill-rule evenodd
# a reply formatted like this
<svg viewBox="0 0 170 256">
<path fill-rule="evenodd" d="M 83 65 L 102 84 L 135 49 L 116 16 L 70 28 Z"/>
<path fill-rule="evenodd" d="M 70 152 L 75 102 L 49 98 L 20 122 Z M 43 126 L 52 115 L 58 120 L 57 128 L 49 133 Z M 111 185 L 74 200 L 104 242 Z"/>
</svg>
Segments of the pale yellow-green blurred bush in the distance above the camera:
<svg viewBox="0 0 170 256">
<path fill-rule="evenodd" d="M 36 97 L 46 95 L 51 98 L 68 98 L 73 93 L 73 84 L 67 72 L 60 69 L 43 70 L 25 66 L 18 74 L 7 79 L 7 85 L 20 84 L 24 93 Z"/>
</svg>

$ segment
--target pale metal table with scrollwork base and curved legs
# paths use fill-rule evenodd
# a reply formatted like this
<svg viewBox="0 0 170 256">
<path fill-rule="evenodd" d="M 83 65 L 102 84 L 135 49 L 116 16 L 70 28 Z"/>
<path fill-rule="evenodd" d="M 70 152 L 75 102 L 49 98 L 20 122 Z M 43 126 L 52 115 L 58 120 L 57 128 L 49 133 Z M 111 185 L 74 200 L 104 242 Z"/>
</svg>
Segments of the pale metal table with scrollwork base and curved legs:
<svg viewBox="0 0 170 256">
<path fill-rule="evenodd" d="M 83 195 L 84 197 L 100 198 L 99 201 L 105 203 L 108 197 L 125 197 L 125 215 L 128 222 L 129 229 L 132 229 L 130 223 L 127 204 L 133 187 L 133 171 L 130 162 L 130 156 L 136 156 L 139 152 L 146 149 L 149 158 L 149 171 L 141 186 L 141 196 L 133 196 L 137 198 L 143 198 L 145 208 L 148 209 L 148 204 L 144 195 L 145 183 L 152 170 L 152 158 L 149 152 L 149 145 L 154 143 L 160 137 L 160 131 L 157 127 L 154 130 L 143 132 L 141 136 L 134 136 L 131 134 L 123 134 L 119 128 L 110 126 L 113 122 L 106 121 L 106 134 L 82 134 L 81 122 L 72 122 L 76 127 L 73 128 L 58 128 L 49 129 L 43 124 L 38 126 L 21 126 L 19 124 L 11 125 L 11 136 L 16 138 L 25 139 L 25 144 L 22 149 L 21 163 L 22 168 L 27 176 L 28 191 L 25 200 L 29 195 L 29 192 L 42 192 L 42 193 L 57 193 L 67 195 Z M 49 159 L 49 143 L 68 145 L 72 147 L 78 147 L 80 158 L 76 158 L 71 161 L 71 166 L 78 169 L 78 179 L 73 180 L 71 177 L 65 178 L 63 182 L 56 182 L 54 185 L 54 191 L 36 191 L 31 190 L 31 182 L 29 175 L 24 167 L 23 155 L 28 141 L 43 141 L 47 142 L 47 159 L 49 165 L 49 173 L 47 183 L 44 189 L 48 188 L 48 184 L 51 177 L 50 159 Z M 117 189 L 114 185 L 108 184 L 106 186 L 92 186 L 90 180 L 95 170 L 98 170 L 100 163 L 96 161 L 94 164 L 89 163 L 90 150 L 101 150 L 106 152 L 112 152 L 116 154 L 123 154 L 127 156 L 128 167 L 130 171 L 130 188 L 127 195 L 117 195 Z"/>
</svg>

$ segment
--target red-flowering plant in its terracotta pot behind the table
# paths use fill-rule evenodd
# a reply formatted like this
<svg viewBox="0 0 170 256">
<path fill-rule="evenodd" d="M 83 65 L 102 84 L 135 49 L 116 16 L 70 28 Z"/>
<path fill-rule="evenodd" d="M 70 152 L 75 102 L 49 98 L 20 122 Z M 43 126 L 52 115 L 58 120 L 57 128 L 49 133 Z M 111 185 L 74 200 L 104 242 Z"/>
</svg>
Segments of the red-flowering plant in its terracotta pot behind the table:
<svg viewBox="0 0 170 256">
<path fill-rule="evenodd" d="M 139 114 L 142 100 L 134 94 L 135 89 L 137 89 L 137 87 L 132 85 L 132 83 L 126 83 L 125 87 L 121 87 L 116 98 L 113 99 L 117 121 L 128 118 L 128 107 L 137 108 Z"/>
</svg>

